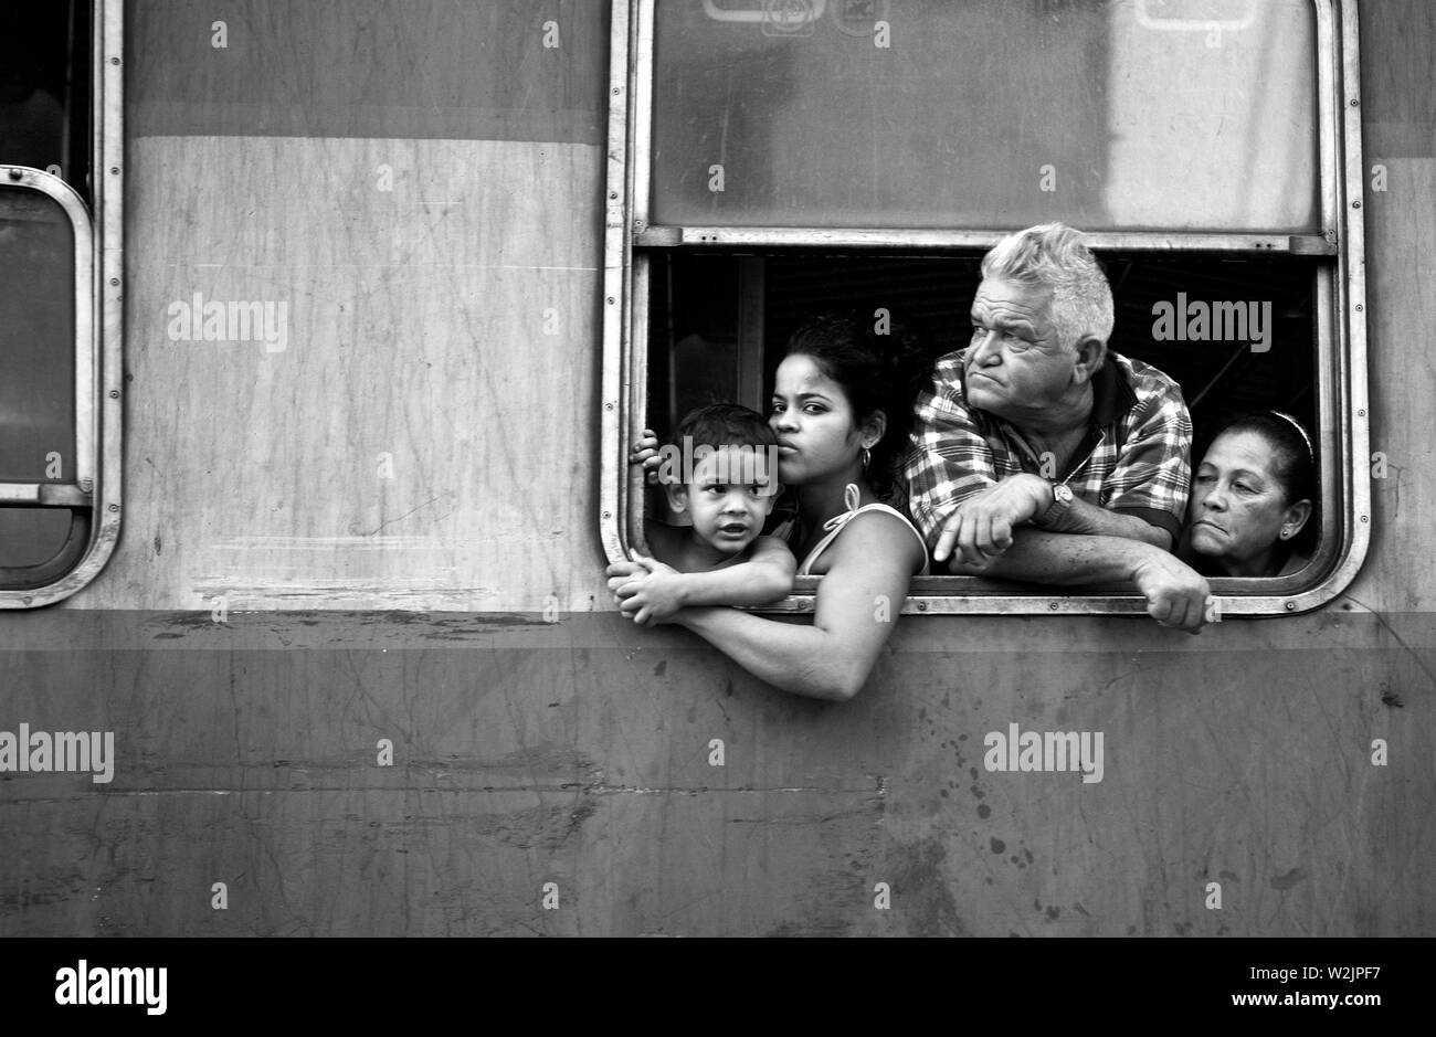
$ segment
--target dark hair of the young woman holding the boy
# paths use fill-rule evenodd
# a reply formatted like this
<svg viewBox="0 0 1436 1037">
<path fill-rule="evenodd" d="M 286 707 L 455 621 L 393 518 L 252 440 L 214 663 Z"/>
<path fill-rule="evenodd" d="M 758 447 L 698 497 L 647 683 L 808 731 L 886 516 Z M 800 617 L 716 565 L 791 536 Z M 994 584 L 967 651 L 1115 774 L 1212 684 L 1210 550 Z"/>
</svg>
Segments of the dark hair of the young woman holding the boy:
<svg viewBox="0 0 1436 1037">
<path fill-rule="evenodd" d="M 872 447 L 867 481 L 885 500 L 898 494 L 912 406 L 932 372 L 922 335 L 892 316 L 824 313 L 793 332 L 785 356 L 811 356 L 819 371 L 843 386 L 857 424 L 873 412 L 887 418 Z"/>
</svg>

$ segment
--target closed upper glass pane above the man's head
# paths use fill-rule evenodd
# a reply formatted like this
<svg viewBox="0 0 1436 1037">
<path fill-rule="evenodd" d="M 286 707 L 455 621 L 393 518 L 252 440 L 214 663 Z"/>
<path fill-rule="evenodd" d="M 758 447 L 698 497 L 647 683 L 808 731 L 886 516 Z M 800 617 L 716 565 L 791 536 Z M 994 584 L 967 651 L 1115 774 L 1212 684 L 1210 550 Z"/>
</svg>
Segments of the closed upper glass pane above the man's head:
<svg viewBox="0 0 1436 1037">
<path fill-rule="evenodd" d="M 652 223 L 1320 231 L 1311 0 L 656 9 Z"/>
</svg>

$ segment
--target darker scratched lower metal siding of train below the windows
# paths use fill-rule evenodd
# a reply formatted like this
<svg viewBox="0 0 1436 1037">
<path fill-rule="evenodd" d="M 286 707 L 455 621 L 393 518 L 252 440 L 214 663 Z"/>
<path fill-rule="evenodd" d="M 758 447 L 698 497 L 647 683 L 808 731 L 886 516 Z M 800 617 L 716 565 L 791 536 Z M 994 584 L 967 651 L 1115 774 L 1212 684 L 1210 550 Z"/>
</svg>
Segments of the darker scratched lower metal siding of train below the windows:
<svg viewBox="0 0 1436 1037">
<path fill-rule="evenodd" d="M 1436 924 L 1430 615 L 906 622 L 841 707 L 613 616 L 60 616 L 0 655 L 7 714 L 113 730 L 116 773 L 3 776 L 3 935 Z M 1103 780 L 989 773 L 1010 722 L 1103 731 Z"/>
</svg>

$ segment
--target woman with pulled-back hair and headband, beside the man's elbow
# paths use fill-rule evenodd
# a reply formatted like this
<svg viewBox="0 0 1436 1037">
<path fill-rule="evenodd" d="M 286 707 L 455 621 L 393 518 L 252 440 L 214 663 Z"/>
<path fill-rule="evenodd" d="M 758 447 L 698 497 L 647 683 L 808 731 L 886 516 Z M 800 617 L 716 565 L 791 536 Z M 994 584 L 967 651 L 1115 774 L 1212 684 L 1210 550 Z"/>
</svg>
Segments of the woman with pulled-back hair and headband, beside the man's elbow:
<svg viewBox="0 0 1436 1037">
<path fill-rule="evenodd" d="M 1281 576 L 1310 560 L 1315 452 L 1290 414 L 1228 422 L 1192 480 L 1183 557 L 1208 576 Z"/>
</svg>

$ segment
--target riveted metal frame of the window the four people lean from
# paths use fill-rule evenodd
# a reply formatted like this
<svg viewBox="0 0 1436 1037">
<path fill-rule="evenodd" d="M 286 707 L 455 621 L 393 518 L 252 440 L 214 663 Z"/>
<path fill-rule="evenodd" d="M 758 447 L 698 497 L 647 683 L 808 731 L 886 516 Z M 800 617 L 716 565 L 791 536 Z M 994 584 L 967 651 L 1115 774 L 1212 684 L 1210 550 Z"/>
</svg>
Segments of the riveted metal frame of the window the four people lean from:
<svg viewBox="0 0 1436 1037">
<path fill-rule="evenodd" d="M 1272 579 L 1215 579 L 1222 618 L 1281 616 L 1318 609 L 1356 579 L 1370 544 L 1370 417 L 1366 362 L 1366 244 L 1363 221 L 1360 46 L 1357 0 L 1311 0 L 1317 45 L 1320 236 L 1091 233 L 1094 251 L 1317 256 L 1317 434 L 1321 444 L 1324 537 L 1304 573 Z M 610 562 L 646 550 L 642 475 L 625 448 L 643 428 L 648 404 L 651 251 L 684 248 L 920 248 L 941 253 L 989 247 L 1007 231 L 803 227 L 653 227 L 649 175 L 655 0 L 613 0 L 609 178 L 605 237 L 603 414 L 600 530 Z M 1310 573 L 1310 575 L 1307 575 Z M 820 577 L 760 612 L 811 612 Z M 968 576 L 915 577 L 903 613 L 1144 615 L 1140 595 L 1109 589 L 1064 593 Z"/>
</svg>

